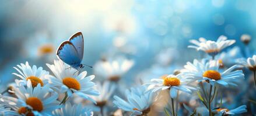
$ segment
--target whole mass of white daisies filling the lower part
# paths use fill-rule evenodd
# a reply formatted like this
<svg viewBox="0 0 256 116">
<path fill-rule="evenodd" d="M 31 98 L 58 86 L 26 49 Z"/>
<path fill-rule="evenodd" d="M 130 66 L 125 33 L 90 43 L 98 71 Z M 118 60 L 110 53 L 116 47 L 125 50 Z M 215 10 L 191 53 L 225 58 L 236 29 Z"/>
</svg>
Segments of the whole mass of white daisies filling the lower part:
<svg viewBox="0 0 256 116">
<path fill-rule="evenodd" d="M 241 36 L 244 45 L 250 40 Z M 171 66 L 175 52 L 163 50 L 134 86 L 124 77 L 135 61 L 124 56 L 103 57 L 93 67 L 95 75 L 62 60 L 47 63 L 47 70 L 21 63 L 13 67 L 15 82 L 0 95 L 0 115 L 253 115 L 256 55 L 239 54 L 237 46 L 223 52 L 236 42 L 223 35 L 190 42 L 188 48 L 203 52 L 201 58 Z"/>
</svg>

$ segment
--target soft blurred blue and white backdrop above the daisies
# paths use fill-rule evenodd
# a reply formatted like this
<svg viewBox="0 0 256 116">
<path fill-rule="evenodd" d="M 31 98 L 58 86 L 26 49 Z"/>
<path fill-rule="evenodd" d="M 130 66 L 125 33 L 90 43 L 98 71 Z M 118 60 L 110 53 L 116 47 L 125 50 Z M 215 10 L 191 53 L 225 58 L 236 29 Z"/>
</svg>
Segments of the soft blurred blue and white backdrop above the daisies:
<svg viewBox="0 0 256 116">
<path fill-rule="evenodd" d="M 216 41 L 225 35 L 236 39 L 226 51 L 236 46 L 238 57 L 251 57 L 256 49 L 255 5 L 253 0 L 3 0 L 0 85 L 17 79 L 13 67 L 26 61 L 49 71 L 45 63 L 53 64 L 59 44 L 78 31 L 85 39 L 83 64 L 96 66 L 116 57 L 134 61 L 120 79 L 121 88 L 172 74 L 187 61 L 202 58 L 201 52 L 187 48 L 190 39 Z M 240 41 L 243 34 L 251 36 L 250 44 Z M 96 68 L 84 70 L 97 80 L 101 76 Z"/>
</svg>

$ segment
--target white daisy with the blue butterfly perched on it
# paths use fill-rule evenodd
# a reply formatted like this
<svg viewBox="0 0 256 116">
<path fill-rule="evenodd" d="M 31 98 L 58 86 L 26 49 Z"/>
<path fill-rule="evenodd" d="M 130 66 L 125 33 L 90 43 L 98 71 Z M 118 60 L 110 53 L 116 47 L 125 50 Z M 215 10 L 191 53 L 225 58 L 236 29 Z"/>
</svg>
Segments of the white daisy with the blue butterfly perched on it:
<svg viewBox="0 0 256 116">
<path fill-rule="evenodd" d="M 61 60 L 54 60 L 54 64 L 46 64 L 55 75 L 48 76 L 49 84 L 59 88 L 61 93 L 66 92 L 67 97 L 71 97 L 72 93 L 96 103 L 89 95 L 97 96 L 99 92 L 93 89 L 95 84 L 92 82 L 94 75 L 86 77 L 87 72 L 83 71 L 79 75 L 77 70 L 63 63 Z"/>
</svg>

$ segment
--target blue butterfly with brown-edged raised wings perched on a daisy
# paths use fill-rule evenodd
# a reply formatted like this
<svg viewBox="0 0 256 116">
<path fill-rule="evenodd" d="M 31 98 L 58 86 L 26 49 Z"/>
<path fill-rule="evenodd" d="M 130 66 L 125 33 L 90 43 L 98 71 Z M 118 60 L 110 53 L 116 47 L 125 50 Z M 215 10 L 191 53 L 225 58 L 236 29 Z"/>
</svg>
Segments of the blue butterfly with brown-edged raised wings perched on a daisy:
<svg viewBox="0 0 256 116">
<path fill-rule="evenodd" d="M 64 61 L 64 63 L 68 64 L 69 66 L 75 68 L 76 70 L 80 70 L 87 66 L 85 64 L 81 64 L 81 61 L 83 60 L 82 32 L 76 32 L 76 34 L 73 34 L 69 38 L 69 41 L 62 42 L 62 44 L 59 45 L 56 54 L 59 59 Z"/>
</svg>

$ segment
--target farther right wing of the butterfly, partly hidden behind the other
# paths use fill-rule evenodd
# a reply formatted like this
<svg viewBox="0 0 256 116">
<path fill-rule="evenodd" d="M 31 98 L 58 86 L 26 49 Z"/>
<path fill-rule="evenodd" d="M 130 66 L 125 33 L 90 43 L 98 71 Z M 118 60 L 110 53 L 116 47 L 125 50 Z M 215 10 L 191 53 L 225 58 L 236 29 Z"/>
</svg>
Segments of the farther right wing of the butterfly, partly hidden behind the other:
<svg viewBox="0 0 256 116">
<path fill-rule="evenodd" d="M 75 46 L 75 49 L 78 51 L 80 59 L 83 59 L 83 34 L 82 32 L 76 32 L 69 38 L 69 41 Z"/>
</svg>

